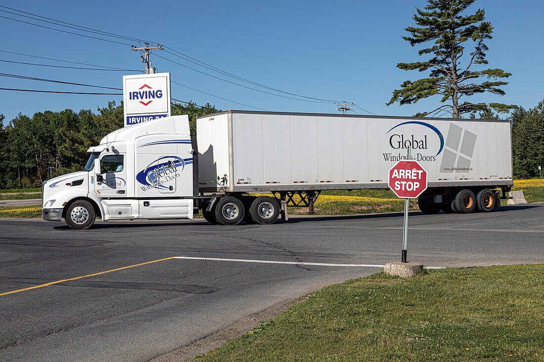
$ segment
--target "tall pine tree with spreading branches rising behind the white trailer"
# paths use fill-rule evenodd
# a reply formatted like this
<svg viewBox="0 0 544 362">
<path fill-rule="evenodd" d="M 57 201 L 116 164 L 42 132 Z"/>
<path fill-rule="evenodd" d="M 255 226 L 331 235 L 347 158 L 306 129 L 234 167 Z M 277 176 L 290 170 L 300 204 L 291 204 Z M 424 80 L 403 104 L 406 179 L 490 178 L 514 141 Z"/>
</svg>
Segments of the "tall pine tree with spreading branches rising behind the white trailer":
<svg viewBox="0 0 544 362">
<path fill-rule="evenodd" d="M 413 63 L 399 63 L 402 70 L 429 71 L 428 78 L 415 81 L 406 80 L 401 88 L 393 91 L 393 96 L 387 105 L 395 102 L 412 104 L 420 99 L 435 95 L 442 96 L 440 107 L 419 113 L 416 116 L 432 116 L 443 113 L 459 118 L 463 114 L 477 111 L 494 110 L 507 113 L 513 108 L 501 103 L 474 103 L 465 100 L 466 97 L 478 93 L 491 92 L 504 95 L 500 86 L 508 84 L 501 78 L 508 78 L 511 73 L 502 69 L 488 68 L 472 70 L 477 65 L 486 65 L 485 41 L 492 38 L 493 27 L 485 20 L 485 10 L 478 9 L 474 14 L 466 15 L 467 8 L 475 0 L 428 0 L 424 10 L 417 9 L 413 16 L 417 27 L 407 27 L 405 30 L 411 36 L 403 36 L 410 45 L 422 45 L 419 56 L 430 59 Z M 466 47 L 473 51 L 470 54 Z"/>
</svg>

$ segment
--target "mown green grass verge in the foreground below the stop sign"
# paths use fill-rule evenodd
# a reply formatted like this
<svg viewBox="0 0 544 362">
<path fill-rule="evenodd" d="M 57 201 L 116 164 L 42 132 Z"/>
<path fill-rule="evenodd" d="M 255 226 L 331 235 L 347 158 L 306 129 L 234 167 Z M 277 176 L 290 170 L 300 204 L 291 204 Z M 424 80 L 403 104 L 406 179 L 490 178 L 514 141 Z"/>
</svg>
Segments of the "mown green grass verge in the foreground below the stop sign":
<svg viewBox="0 0 544 362">
<path fill-rule="evenodd" d="M 544 265 L 329 286 L 196 360 L 542 361 Z"/>
</svg>

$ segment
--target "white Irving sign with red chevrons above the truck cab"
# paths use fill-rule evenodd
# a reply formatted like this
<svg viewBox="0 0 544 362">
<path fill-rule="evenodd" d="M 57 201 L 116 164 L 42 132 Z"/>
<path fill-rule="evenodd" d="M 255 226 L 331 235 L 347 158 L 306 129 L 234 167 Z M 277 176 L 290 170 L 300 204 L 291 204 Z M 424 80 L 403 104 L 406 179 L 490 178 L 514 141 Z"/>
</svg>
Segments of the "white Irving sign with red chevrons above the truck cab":
<svg viewBox="0 0 544 362">
<path fill-rule="evenodd" d="M 125 127 L 171 115 L 170 73 L 123 76 Z"/>
</svg>

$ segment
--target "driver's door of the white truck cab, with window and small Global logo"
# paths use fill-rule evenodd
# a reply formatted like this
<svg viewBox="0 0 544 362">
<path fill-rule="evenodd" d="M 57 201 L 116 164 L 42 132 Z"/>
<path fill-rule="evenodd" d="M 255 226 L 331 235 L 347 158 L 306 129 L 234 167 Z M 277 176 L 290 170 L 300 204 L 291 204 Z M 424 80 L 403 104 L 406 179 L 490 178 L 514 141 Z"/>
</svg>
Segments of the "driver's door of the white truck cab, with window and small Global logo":
<svg viewBox="0 0 544 362">
<path fill-rule="evenodd" d="M 125 196 L 127 192 L 127 177 L 125 170 L 125 154 L 106 154 L 100 159 L 102 181 L 95 183 L 98 195 L 112 197 Z"/>
</svg>

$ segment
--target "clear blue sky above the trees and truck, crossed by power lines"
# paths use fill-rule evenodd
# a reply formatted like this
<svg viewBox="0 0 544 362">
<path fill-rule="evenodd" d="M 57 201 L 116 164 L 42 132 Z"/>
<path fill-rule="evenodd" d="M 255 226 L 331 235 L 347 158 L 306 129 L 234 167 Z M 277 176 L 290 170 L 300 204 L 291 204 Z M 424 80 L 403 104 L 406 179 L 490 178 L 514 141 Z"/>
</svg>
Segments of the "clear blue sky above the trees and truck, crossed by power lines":
<svg viewBox="0 0 544 362">
<path fill-rule="evenodd" d="M 425 1 L 4 0 L 2 4 L 106 32 L 157 41 L 254 82 L 310 97 L 345 99 L 378 115 L 411 116 L 438 105 L 436 98 L 402 107 L 385 105 L 391 92 L 404 80 L 421 75 L 401 71 L 395 64 L 419 58 L 401 36 L 406 34 L 404 28 L 413 24 L 411 17 L 415 8 L 423 7 Z M 489 94 L 478 100 L 534 107 L 544 98 L 541 70 L 544 3 L 479 0 L 472 10 L 477 8 L 486 9 L 486 18 L 494 26 L 493 39 L 487 42 L 489 67 L 503 68 L 513 74 L 510 84 L 504 87 L 505 97 Z M 4 18 L 0 18 L 0 29 L 3 51 L 143 69 L 139 55 L 125 45 L 85 39 Z M 170 54 L 158 54 L 196 67 Z M 70 66 L 4 52 L 0 52 L 0 59 Z M 151 59 L 159 72 L 171 72 L 172 80 L 232 101 L 273 111 L 337 113 L 333 104 L 275 97 L 221 82 L 157 57 Z M 2 73 L 112 87 L 121 87 L 121 76 L 125 74 L 0 63 Z M 2 88 L 96 90 L 5 77 L 0 77 L 0 82 Z M 172 84 L 172 96 L 197 104 L 210 102 L 224 110 L 251 109 L 176 84 Z M 120 102 L 122 97 L 0 90 L 0 113 L 11 120 L 18 113 L 32 115 L 42 110 L 96 110 L 112 99 Z"/>
</svg>

